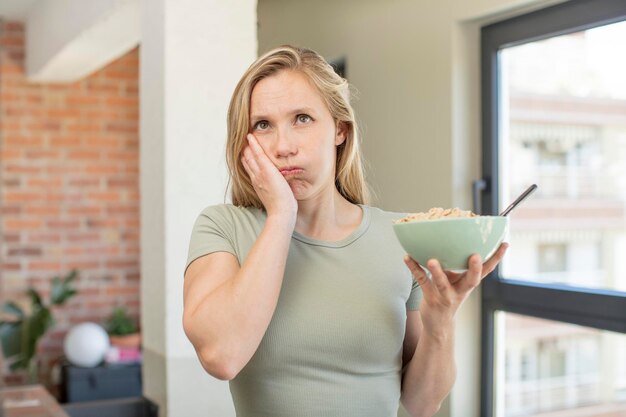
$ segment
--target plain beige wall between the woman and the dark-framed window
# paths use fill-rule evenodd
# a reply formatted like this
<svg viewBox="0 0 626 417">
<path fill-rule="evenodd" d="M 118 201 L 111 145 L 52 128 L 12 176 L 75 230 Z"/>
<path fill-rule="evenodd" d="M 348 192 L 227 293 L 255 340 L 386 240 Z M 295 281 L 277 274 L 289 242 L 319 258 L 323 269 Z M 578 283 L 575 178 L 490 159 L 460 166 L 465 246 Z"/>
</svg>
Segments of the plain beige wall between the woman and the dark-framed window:
<svg viewBox="0 0 626 417">
<path fill-rule="evenodd" d="M 557 2 L 260 0 L 259 52 L 292 43 L 346 57 L 375 205 L 471 208 L 481 156 L 480 26 Z M 478 416 L 478 292 L 457 317 L 459 376 L 439 415 Z"/>
</svg>

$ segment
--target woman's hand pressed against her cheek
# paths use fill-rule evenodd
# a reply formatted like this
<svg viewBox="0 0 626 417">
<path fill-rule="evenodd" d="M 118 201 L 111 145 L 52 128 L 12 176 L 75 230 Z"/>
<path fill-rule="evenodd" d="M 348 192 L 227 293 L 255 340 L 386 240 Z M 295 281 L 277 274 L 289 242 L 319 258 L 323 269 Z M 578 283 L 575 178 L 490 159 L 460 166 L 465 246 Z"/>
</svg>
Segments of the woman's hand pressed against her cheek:
<svg viewBox="0 0 626 417">
<path fill-rule="evenodd" d="M 241 163 L 250 176 L 252 186 L 267 211 L 268 218 L 285 217 L 295 225 L 298 202 L 291 187 L 278 168 L 263 151 L 253 134 L 248 133 L 248 146 L 243 150 Z"/>
</svg>

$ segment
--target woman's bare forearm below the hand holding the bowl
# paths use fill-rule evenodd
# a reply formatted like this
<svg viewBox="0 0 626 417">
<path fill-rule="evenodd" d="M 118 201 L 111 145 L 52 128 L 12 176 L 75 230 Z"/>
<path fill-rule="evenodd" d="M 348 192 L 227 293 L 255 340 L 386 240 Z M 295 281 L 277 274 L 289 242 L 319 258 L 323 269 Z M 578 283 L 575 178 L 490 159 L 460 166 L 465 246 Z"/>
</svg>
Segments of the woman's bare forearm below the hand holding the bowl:
<svg viewBox="0 0 626 417">
<path fill-rule="evenodd" d="M 420 335 L 402 377 L 401 401 L 412 417 L 435 414 L 454 385 L 454 326 L 441 330 Z"/>
</svg>

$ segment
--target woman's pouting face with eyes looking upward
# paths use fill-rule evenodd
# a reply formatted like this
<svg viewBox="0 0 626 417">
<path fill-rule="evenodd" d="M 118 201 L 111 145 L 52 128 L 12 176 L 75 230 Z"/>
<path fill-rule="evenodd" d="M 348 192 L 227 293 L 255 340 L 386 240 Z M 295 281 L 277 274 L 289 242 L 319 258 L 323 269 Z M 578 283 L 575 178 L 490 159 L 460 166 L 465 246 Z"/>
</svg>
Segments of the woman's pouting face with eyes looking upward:
<svg viewBox="0 0 626 417">
<path fill-rule="evenodd" d="M 296 200 L 334 192 L 336 146 L 345 133 L 304 74 L 284 70 L 257 83 L 250 99 L 250 132 Z"/>
</svg>

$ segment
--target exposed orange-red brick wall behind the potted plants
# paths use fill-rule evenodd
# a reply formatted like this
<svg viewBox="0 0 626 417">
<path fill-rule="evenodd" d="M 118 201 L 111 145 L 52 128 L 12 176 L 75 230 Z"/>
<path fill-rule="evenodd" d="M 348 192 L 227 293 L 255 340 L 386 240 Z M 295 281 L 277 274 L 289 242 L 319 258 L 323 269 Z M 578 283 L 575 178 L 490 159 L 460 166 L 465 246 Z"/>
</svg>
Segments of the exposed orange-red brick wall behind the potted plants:
<svg viewBox="0 0 626 417">
<path fill-rule="evenodd" d="M 0 301 L 79 271 L 43 370 L 76 323 L 139 314 L 138 49 L 71 84 L 24 74 L 24 27 L 0 21 Z"/>
</svg>

